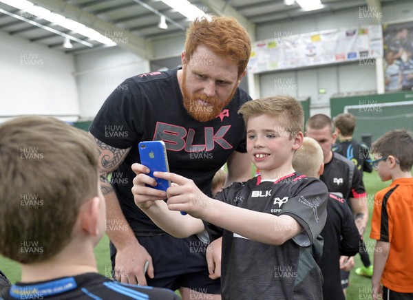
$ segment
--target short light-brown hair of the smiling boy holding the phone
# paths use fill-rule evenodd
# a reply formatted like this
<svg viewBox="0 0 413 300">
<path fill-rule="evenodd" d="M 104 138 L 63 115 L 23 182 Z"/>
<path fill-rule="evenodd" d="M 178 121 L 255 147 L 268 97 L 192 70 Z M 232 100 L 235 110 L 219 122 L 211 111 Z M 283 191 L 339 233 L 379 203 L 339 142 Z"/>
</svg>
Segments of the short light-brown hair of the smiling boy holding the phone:
<svg viewBox="0 0 413 300">
<path fill-rule="evenodd" d="M 299 102 L 291 97 L 277 95 L 244 103 L 238 114 L 242 114 L 245 124 L 251 116 L 268 115 L 281 120 L 284 131 L 290 139 L 304 131 L 304 111 Z"/>
</svg>

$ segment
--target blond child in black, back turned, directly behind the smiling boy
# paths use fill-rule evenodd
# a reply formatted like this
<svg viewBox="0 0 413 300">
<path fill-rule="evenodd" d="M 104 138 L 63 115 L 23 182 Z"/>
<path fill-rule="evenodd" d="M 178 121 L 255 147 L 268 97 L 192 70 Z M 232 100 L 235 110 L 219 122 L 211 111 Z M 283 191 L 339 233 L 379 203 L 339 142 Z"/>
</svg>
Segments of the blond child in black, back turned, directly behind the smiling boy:
<svg viewBox="0 0 413 300">
<path fill-rule="evenodd" d="M 311 159 L 308 159 L 311 158 Z M 323 151 L 313 138 L 304 138 L 293 156 L 293 168 L 304 175 L 319 178 L 324 171 Z M 340 255 L 353 256 L 359 252 L 360 236 L 346 200 L 329 194 L 327 221 L 321 231 L 324 237 L 323 255 L 317 262 L 323 273 L 324 300 L 344 300 L 340 279 Z"/>
</svg>

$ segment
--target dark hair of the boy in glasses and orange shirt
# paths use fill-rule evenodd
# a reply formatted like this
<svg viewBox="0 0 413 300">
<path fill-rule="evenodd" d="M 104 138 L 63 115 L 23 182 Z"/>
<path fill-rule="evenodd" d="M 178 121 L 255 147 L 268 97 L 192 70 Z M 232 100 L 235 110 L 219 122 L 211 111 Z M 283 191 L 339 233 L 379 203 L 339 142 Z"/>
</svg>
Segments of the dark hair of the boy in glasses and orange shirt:
<svg viewBox="0 0 413 300">
<path fill-rule="evenodd" d="M 413 137 L 405 130 L 384 133 L 372 144 L 371 152 L 381 157 L 394 156 L 399 160 L 401 171 L 411 171 L 413 166 Z"/>
</svg>

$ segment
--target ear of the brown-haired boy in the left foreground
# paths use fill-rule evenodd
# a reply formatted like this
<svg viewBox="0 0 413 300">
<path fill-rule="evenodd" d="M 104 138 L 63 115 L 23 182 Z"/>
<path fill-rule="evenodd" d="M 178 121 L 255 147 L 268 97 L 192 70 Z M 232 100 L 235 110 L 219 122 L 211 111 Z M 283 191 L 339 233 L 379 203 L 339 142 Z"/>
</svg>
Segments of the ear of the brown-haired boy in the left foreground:
<svg viewBox="0 0 413 300">
<path fill-rule="evenodd" d="M 100 216 L 100 199 L 93 197 L 87 200 L 80 209 L 81 227 L 82 230 L 89 235 L 99 234 L 99 218 Z"/>
</svg>

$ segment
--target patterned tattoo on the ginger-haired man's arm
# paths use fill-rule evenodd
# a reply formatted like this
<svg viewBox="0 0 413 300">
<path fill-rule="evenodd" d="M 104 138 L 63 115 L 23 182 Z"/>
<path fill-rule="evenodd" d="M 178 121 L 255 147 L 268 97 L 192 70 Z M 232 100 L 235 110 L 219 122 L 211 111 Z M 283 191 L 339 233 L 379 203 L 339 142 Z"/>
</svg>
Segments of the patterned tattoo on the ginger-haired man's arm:
<svg viewBox="0 0 413 300">
<path fill-rule="evenodd" d="M 100 176 L 100 189 L 103 195 L 107 195 L 109 193 L 113 193 L 112 185 L 110 184 L 109 180 L 107 180 L 107 176 L 110 172 L 114 171 L 119 164 L 123 162 L 127 153 L 129 153 L 130 148 L 128 149 L 118 149 L 116 147 L 109 146 L 104 142 L 101 142 L 97 138 L 94 137 L 94 141 L 98 146 L 98 153 L 99 153 L 99 176 Z"/>
</svg>

